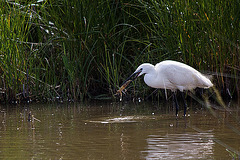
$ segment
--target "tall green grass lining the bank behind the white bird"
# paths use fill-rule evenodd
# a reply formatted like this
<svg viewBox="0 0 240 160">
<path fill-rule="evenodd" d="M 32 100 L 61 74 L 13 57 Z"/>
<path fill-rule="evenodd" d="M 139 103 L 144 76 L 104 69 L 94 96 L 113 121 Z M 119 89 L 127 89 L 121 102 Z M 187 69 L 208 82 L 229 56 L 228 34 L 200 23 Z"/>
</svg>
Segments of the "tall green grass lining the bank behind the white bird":
<svg viewBox="0 0 240 160">
<path fill-rule="evenodd" d="M 184 62 L 239 97 L 239 1 L 0 2 L 0 100 L 105 99 L 143 62 Z M 147 96 L 142 80 L 129 94 Z"/>
</svg>

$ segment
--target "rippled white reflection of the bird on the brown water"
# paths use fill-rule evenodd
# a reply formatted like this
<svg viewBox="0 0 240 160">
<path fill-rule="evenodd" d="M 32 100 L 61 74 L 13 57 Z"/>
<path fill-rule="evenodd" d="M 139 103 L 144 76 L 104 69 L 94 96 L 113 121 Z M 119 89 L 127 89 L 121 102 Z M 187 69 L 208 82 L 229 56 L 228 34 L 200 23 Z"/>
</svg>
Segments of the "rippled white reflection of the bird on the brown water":
<svg viewBox="0 0 240 160">
<path fill-rule="evenodd" d="M 146 159 L 209 159 L 214 142 L 211 133 L 149 135 Z"/>
</svg>

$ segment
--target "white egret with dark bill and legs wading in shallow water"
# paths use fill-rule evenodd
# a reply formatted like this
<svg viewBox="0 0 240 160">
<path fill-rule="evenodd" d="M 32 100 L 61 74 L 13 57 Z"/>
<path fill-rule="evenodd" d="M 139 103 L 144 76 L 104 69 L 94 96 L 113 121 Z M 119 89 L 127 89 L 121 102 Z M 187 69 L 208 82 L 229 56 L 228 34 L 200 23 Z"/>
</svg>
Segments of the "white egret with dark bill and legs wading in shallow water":
<svg viewBox="0 0 240 160">
<path fill-rule="evenodd" d="M 152 88 L 170 89 L 173 91 L 173 98 L 176 105 L 176 116 L 178 115 L 178 102 L 175 91 L 178 89 L 181 93 L 184 90 L 191 90 L 196 87 L 209 88 L 212 82 L 194 68 L 176 61 L 166 60 L 155 66 L 150 63 L 141 64 L 136 71 L 123 83 L 130 79 L 145 74 L 145 83 Z M 181 94 L 183 97 L 183 94 Z M 184 100 L 184 97 L 183 97 Z M 184 116 L 186 115 L 186 103 L 184 100 Z"/>
</svg>

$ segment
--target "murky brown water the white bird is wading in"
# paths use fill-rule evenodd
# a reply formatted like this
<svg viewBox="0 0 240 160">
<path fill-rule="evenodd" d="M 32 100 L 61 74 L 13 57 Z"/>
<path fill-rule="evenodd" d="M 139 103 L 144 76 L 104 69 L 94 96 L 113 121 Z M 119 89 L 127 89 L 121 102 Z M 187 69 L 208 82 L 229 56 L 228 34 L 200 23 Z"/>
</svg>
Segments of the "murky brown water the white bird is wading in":
<svg viewBox="0 0 240 160">
<path fill-rule="evenodd" d="M 1 106 L 0 159 L 239 158 L 238 105 L 188 105 L 178 120 L 172 103 Z"/>
</svg>

